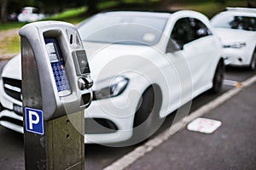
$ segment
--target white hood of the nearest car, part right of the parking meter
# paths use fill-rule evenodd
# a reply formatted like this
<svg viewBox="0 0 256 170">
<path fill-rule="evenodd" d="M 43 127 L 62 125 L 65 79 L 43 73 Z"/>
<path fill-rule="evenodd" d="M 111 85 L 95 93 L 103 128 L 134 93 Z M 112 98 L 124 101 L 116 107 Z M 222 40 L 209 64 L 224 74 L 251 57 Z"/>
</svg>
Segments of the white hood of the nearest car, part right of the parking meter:
<svg viewBox="0 0 256 170">
<path fill-rule="evenodd" d="M 91 77 L 97 82 L 128 71 L 143 71 L 158 56 L 154 47 L 84 42 Z"/>
</svg>

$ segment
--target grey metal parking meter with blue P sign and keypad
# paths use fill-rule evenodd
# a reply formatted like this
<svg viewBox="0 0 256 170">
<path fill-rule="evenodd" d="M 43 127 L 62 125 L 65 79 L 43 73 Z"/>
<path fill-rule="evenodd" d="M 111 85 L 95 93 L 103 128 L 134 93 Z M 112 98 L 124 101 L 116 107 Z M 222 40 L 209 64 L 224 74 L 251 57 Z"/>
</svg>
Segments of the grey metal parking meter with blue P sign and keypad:
<svg viewBox="0 0 256 170">
<path fill-rule="evenodd" d="M 20 29 L 26 169 L 84 169 L 90 67 L 77 29 L 41 21 Z"/>
</svg>

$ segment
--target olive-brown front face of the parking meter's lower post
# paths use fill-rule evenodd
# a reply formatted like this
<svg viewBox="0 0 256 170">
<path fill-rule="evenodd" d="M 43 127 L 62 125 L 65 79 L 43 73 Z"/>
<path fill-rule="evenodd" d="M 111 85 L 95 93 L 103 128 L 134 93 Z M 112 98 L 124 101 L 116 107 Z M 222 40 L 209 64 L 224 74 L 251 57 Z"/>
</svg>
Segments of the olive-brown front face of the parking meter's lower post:
<svg viewBox="0 0 256 170">
<path fill-rule="evenodd" d="M 46 122 L 46 128 L 47 144 L 51 144 L 47 147 L 49 169 L 84 170 L 84 135 L 80 133 L 84 131 L 84 111 Z"/>
</svg>

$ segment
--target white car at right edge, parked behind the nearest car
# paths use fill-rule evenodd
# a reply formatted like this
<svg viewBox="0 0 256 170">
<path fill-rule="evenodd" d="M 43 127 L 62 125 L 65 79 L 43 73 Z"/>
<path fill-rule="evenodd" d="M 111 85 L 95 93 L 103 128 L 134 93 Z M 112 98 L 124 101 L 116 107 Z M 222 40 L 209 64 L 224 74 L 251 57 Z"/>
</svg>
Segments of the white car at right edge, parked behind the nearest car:
<svg viewBox="0 0 256 170">
<path fill-rule="evenodd" d="M 216 28 L 230 65 L 256 69 L 256 8 L 227 8 L 215 15 Z"/>
</svg>

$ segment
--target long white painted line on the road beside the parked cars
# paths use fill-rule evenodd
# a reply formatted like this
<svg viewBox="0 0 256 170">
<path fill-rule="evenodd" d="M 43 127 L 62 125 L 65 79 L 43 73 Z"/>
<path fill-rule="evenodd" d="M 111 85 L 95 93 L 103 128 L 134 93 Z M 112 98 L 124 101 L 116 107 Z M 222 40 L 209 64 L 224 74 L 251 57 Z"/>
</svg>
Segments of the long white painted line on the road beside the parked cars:
<svg viewBox="0 0 256 170">
<path fill-rule="evenodd" d="M 217 108 L 218 105 L 222 105 L 228 99 L 234 97 L 236 94 L 239 94 L 242 89 L 250 87 L 254 82 L 256 82 L 256 75 L 248 78 L 245 82 L 242 82 L 241 87 L 236 86 L 236 88 L 232 88 L 228 92 L 220 95 L 218 98 L 213 99 L 207 103 L 207 105 L 202 105 L 198 110 L 189 114 L 189 116 L 183 117 L 180 122 L 172 125 L 170 129 L 166 129 L 164 132 L 154 137 L 154 139 L 150 139 L 147 143 L 138 146 L 130 153 L 120 157 L 119 160 L 114 161 L 111 165 L 105 167 L 104 170 L 122 170 L 125 169 L 125 167 L 129 167 L 133 162 L 137 161 L 137 159 L 144 156 L 151 150 L 154 150 L 154 148 L 162 144 L 164 141 L 166 141 L 166 139 L 169 139 L 172 134 L 177 133 L 178 131 L 182 130 L 183 127 L 186 127 L 189 122 L 193 121 L 199 116 L 207 114 L 209 111 Z M 179 129 L 178 131 L 177 128 Z"/>
</svg>

